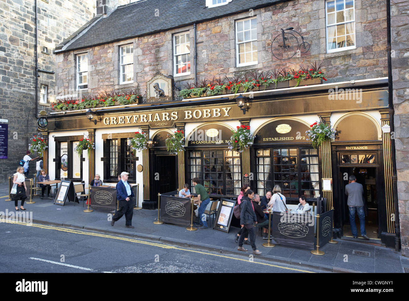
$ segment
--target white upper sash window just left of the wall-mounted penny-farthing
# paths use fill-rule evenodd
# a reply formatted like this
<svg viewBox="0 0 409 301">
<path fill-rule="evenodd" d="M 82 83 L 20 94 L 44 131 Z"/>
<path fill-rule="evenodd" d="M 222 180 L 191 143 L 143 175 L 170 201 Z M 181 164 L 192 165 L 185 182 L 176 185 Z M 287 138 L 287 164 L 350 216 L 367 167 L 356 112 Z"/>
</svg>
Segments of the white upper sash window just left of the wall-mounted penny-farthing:
<svg viewBox="0 0 409 301">
<path fill-rule="evenodd" d="M 237 66 L 257 63 L 257 19 L 236 21 Z"/>
</svg>

